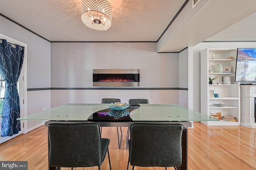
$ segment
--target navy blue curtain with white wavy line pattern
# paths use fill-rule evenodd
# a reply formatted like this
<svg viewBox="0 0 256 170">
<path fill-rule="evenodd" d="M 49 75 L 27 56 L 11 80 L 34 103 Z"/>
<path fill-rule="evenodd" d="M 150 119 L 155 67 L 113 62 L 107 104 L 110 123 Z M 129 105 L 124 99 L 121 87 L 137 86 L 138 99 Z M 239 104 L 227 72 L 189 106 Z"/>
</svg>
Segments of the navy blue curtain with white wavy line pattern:
<svg viewBox="0 0 256 170">
<path fill-rule="evenodd" d="M 0 73 L 5 81 L 2 112 L 2 136 L 12 136 L 20 131 L 20 98 L 17 82 L 24 59 L 24 47 L 0 39 Z"/>
</svg>

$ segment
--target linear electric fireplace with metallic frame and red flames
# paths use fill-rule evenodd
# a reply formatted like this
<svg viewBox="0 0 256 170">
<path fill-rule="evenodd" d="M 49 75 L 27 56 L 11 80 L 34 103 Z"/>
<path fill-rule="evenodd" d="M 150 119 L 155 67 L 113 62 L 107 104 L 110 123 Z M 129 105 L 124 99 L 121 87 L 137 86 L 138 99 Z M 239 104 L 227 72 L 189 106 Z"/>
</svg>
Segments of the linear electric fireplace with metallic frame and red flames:
<svg viewBox="0 0 256 170">
<path fill-rule="evenodd" d="M 138 87 L 140 69 L 93 69 L 93 86 Z"/>
</svg>

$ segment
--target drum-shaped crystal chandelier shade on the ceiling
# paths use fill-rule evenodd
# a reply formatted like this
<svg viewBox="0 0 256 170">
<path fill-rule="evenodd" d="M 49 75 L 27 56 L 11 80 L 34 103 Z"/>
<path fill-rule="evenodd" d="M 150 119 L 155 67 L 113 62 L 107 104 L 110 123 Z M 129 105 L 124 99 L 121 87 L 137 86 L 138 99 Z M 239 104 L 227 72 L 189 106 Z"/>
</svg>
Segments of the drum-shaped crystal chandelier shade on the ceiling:
<svg viewBox="0 0 256 170">
<path fill-rule="evenodd" d="M 82 0 L 82 22 L 94 30 L 107 30 L 112 24 L 112 7 L 107 0 Z"/>
</svg>

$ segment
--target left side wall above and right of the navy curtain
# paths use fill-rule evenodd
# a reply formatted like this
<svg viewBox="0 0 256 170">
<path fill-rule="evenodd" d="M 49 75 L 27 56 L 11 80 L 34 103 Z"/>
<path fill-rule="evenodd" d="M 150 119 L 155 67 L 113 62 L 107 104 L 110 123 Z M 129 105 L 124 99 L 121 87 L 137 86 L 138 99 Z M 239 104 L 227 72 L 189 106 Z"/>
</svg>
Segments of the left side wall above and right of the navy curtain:
<svg viewBox="0 0 256 170">
<path fill-rule="evenodd" d="M 50 87 L 50 42 L 36 36 L 35 34 L 25 30 L 24 28 L 10 22 L 9 20 L 0 16 L 0 34 L 18 40 L 27 44 L 27 87 L 28 88 L 41 88 Z M 44 95 L 50 96 L 50 91 L 45 91 Z M 28 93 L 27 108 L 28 113 L 36 113 L 41 105 L 50 105 L 50 100 L 45 99 L 42 94 L 38 94 L 36 91 L 30 91 Z M 34 99 L 32 99 L 34 98 Z M 37 101 L 40 99 L 40 102 Z M 44 100 L 45 99 L 45 100 Z M 48 108 L 49 109 L 49 108 Z M 36 125 L 37 122 L 30 121 L 28 128 Z"/>
</svg>

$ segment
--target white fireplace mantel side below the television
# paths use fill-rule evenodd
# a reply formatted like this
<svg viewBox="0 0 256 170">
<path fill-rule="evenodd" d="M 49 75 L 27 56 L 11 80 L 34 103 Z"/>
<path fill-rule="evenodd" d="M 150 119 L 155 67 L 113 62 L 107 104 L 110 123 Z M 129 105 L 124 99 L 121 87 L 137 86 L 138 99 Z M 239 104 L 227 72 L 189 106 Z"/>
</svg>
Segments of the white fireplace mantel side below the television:
<svg viewBox="0 0 256 170">
<path fill-rule="evenodd" d="M 241 85 L 241 126 L 256 128 L 256 85 Z"/>
</svg>

